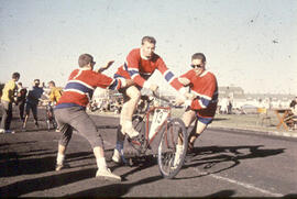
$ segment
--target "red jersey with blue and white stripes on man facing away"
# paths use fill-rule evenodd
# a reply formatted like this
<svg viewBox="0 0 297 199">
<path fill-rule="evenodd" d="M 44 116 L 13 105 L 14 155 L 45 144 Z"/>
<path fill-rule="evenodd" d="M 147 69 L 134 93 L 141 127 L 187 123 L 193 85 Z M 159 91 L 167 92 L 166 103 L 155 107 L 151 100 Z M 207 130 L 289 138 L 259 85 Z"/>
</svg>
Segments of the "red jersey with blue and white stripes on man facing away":
<svg viewBox="0 0 297 199">
<path fill-rule="evenodd" d="M 120 89 L 121 85 L 120 79 L 112 79 L 90 69 L 75 69 L 63 89 L 56 109 L 74 106 L 86 107 L 97 87 L 114 90 Z"/>
</svg>

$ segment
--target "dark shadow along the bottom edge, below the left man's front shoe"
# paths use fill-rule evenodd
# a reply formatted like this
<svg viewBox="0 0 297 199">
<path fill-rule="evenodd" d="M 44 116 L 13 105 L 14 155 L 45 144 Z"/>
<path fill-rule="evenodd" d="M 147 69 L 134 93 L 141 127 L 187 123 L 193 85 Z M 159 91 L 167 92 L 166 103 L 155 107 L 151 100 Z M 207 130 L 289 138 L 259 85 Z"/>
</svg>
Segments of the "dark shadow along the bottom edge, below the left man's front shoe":
<svg viewBox="0 0 297 199">
<path fill-rule="evenodd" d="M 141 185 L 145 185 L 145 184 L 150 184 L 150 183 L 154 183 L 157 180 L 163 179 L 161 176 L 153 176 L 153 177 L 148 177 L 148 178 L 144 178 L 141 180 L 138 180 L 135 183 L 131 183 L 131 184 L 112 184 L 112 185 L 107 185 L 107 186 L 102 186 L 102 187 L 98 187 L 98 188 L 92 188 L 92 189 L 88 189 L 88 190 L 82 190 L 76 194 L 72 194 L 72 195 L 66 195 L 65 197 L 67 198 L 75 198 L 75 197 L 122 197 L 124 195 L 127 195 L 131 188 L 135 187 L 135 186 L 141 186 Z"/>
</svg>

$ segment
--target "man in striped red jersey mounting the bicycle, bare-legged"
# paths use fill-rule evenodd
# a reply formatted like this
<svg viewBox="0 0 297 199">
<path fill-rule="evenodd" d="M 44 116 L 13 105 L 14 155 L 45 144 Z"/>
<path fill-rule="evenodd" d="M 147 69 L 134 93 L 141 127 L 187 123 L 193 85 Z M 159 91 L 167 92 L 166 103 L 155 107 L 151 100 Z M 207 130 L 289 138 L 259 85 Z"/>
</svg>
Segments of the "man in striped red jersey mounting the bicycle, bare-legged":
<svg viewBox="0 0 297 199">
<path fill-rule="evenodd" d="M 114 162 L 120 162 L 121 159 L 120 153 L 123 148 L 124 134 L 128 134 L 130 137 L 139 135 L 139 132 L 132 126 L 132 115 L 141 97 L 140 90 L 142 88 L 147 88 L 152 91 L 157 90 L 158 86 L 156 84 L 147 81 L 154 71 L 156 69 L 160 70 L 165 80 L 176 90 L 183 88 L 183 85 L 167 68 L 164 60 L 154 53 L 155 44 L 156 40 L 154 37 L 144 36 L 141 47 L 132 49 L 127 56 L 125 63 L 119 67 L 118 71 L 114 74 L 114 78 L 132 79 L 134 81 L 134 85 L 119 90 L 123 93 L 124 103 L 120 118 L 117 147 L 112 156 Z"/>
</svg>

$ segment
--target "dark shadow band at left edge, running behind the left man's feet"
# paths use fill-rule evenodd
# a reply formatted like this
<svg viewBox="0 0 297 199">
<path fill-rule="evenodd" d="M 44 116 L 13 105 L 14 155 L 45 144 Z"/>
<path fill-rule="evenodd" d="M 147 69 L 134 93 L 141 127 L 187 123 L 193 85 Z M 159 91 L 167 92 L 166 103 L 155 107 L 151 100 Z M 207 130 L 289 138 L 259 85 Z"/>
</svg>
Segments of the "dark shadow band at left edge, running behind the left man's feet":
<svg viewBox="0 0 297 199">
<path fill-rule="evenodd" d="M 67 154 L 66 162 L 95 158 L 90 154 L 92 153 L 79 152 Z M 4 153 L 1 154 L 1 157 L 4 161 L 0 162 L 0 177 L 53 172 L 56 163 L 56 152 L 47 150 L 31 151 L 24 154 Z"/>
</svg>

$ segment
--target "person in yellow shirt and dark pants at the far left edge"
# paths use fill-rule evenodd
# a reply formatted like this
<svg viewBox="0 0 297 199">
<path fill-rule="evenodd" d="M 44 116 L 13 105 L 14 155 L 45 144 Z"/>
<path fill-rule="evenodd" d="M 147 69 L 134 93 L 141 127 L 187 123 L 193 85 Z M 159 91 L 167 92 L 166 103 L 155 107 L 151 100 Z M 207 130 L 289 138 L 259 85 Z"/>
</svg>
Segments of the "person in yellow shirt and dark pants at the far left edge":
<svg viewBox="0 0 297 199">
<path fill-rule="evenodd" d="M 15 102 L 14 93 L 18 89 L 15 82 L 20 79 L 19 73 L 12 74 L 12 79 L 9 80 L 3 90 L 1 97 L 1 111 L 2 111 L 2 120 L 0 124 L 0 133 L 14 133 L 14 131 L 10 130 L 10 123 L 12 120 L 12 103 Z"/>
</svg>

